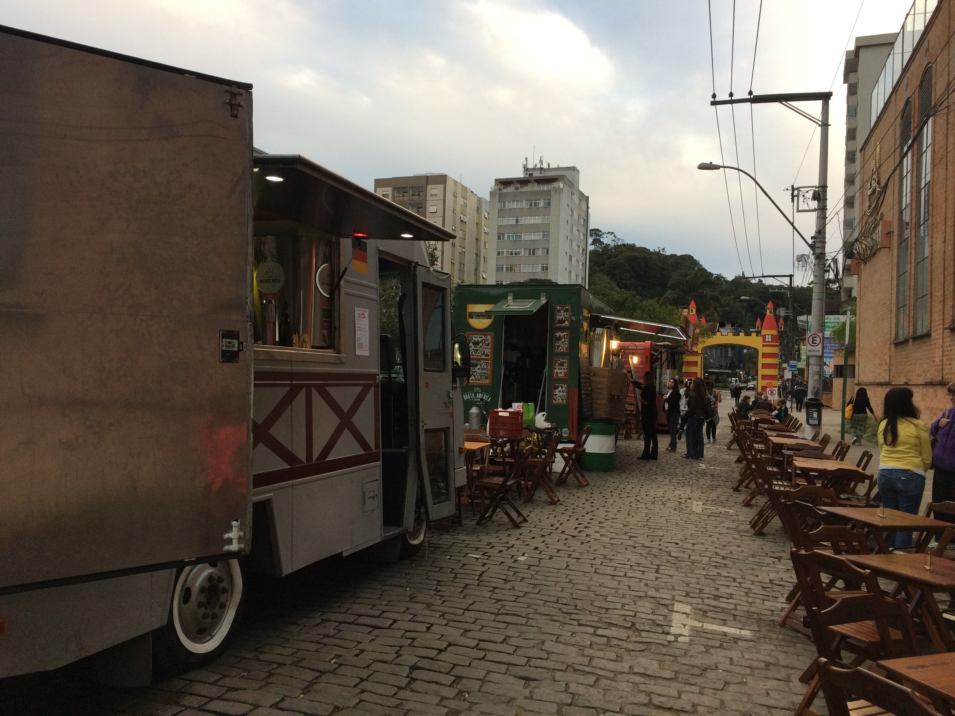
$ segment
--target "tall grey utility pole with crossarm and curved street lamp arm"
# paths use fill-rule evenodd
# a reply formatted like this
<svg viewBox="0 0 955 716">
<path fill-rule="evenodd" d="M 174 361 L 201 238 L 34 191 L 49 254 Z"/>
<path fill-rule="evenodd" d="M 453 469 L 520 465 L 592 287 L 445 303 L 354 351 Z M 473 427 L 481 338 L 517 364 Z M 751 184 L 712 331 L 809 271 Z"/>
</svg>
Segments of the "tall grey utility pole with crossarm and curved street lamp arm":
<svg viewBox="0 0 955 716">
<path fill-rule="evenodd" d="M 816 233 L 813 234 L 813 242 L 811 244 L 806 242 L 802 234 L 799 233 L 798 229 L 796 229 L 795 223 L 793 223 L 793 228 L 796 229 L 796 233 L 799 234 L 799 238 L 801 238 L 803 242 L 809 244 L 809 247 L 813 252 L 812 327 L 814 331 L 823 333 L 825 331 L 826 320 L 826 193 L 829 183 L 829 100 L 832 99 L 832 96 L 833 94 L 831 92 L 800 92 L 790 95 L 753 95 L 751 90 L 751 94 L 749 96 L 740 97 L 738 99 L 733 98 L 732 95 L 730 99 L 716 99 L 715 95 L 713 95 L 713 98 L 710 102 L 711 106 L 717 106 L 721 104 L 778 103 L 783 107 L 792 110 L 797 115 L 809 119 L 819 127 L 819 176 L 817 184 L 818 202 L 816 205 Z M 793 102 L 813 101 L 822 102 L 822 112 L 818 118 L 810 115 L 808 112 L 800 110 L 793 104 Z M 723 167 L 705 167 L 700 165 L 699 168 L 716 169 Z M 755 181 L 755 178 L 752 175 L 749 175 L 747 172 L 744 172 L 741 169 L 737 169 L 737 171 L 747 174 L 753 178 L 753 181 Z M 756 182 L 756 185 L 758 186 L 759 182 Z M 769 194 L 765 189 L 763 190 L 763 193 L 769 197 Z M 773 201 L 773 204 L 779 213 L 782 214 L 783 218 L 786 221 L 789 221 L 789 217 L 787 217 L 782 209 L 779 208 L 779 205 L 776 204 L 773 198 L 769 197 L 769 199 Z M 808 383 L 808 396 L 806 399 L 806 435 L 808 437 L 815 433 L 816 428 L 822 423 L 822 356 L 807 356 L 806 368 L 806 378 Z"/>
</svg>

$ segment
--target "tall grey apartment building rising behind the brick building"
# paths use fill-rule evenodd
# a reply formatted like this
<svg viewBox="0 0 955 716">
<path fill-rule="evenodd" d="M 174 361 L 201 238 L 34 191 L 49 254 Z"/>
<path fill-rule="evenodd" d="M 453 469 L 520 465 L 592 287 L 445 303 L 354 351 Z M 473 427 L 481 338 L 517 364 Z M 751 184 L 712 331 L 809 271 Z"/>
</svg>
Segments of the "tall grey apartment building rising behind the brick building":
<svg viewBox="0 0 955 716">
<path fill-rule="evenodd" d="M 875 117 L 872 116 L 869 99 L 879 82 L 885 60 L 892 51 L 896 34 L 889 32 L 857 37 L 855 47 L 845 53 L 845 64 L 842 66 L 842 83 L 846 86 L 843 236 L 851 236 L 859 221 L 859 182 L 856 180 L 859 172 L 859 142 L 868 136 L 872 128 Z M 859 97 L 862 97 L 862 101 L 859 101 Z M 843 265 L 842 298 L 845 301 L 856 296 L 858 266 L 851 259 L 846 259 Z"/>
</svg>

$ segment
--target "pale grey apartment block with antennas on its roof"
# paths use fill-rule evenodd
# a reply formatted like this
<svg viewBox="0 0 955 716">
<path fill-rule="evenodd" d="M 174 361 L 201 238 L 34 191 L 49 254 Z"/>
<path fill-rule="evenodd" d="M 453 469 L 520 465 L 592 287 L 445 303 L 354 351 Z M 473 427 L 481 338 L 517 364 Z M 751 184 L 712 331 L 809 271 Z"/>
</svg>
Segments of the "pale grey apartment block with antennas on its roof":
<svg viewBox="0 0 955 716">
<path fill-rule="evenodd" d="M 587 284 L 589 198 L 574 166 L 524 159 L 520 177 L 495 179 L 491 188 L 495 282 L 550 279 Z"/>
</svg>

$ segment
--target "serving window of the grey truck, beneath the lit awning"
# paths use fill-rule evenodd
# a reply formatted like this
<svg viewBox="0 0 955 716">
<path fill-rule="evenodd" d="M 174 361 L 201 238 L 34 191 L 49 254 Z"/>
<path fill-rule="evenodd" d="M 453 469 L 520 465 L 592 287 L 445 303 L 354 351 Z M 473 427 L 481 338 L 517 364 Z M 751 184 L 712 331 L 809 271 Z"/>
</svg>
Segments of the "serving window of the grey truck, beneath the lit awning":
<svg viewBox="0 0 955 716">
<path fill-rule="evenodd" d="M 334 348 L 334 242 L 311 236 L 263 236 L 254 244 L 255 343 Z"/>
</svg>

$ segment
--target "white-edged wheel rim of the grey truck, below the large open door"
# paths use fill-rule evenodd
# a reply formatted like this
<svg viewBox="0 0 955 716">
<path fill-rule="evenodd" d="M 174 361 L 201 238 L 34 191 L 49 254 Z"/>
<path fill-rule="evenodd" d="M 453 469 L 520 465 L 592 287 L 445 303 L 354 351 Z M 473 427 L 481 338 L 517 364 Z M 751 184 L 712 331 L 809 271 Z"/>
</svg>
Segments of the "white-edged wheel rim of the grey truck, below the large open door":
<svg viewBox="0 0 955 716">
<path fill-rule="evenodd" d="M 235 620 L 242 592 L 242 571 L 235 559 L 183 569 L 173 590 L 173 625 L 180 643 L 194 654 L 220 646 Z"/>
</svg>

